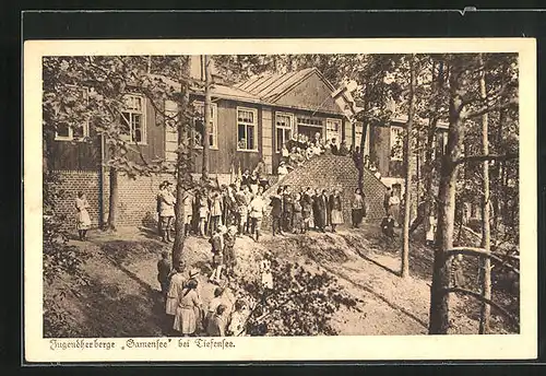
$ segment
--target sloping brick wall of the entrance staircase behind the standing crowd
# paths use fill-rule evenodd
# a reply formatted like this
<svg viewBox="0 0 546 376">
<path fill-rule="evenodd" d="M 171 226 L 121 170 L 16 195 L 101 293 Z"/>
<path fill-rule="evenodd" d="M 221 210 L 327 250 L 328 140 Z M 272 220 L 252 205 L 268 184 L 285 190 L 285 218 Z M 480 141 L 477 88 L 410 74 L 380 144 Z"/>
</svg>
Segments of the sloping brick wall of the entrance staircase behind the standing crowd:
<svg viewBox="0 0 546 376">
<path fill-rule="evenodd" d="M 333 188 L 342 190 L 343 216 L 346 223 L 351 223 L 351 200 L 358 186 L 358 169 L 349 156 L 322 155 L 307 161 L 301 167 L 292 171 L 281 183 L 289 185 L 293 190 L 300 188 L 327 188 L 329 192 Z M 274 184 L 265 192 L 269 197 L 276 191 L 278 183 Z M 368 204 L 369 220 L 380 220 L 384 216 L 383 195 L 385 186 L 369 171 L 364 175 L 364 193 Z"/>
</svg>

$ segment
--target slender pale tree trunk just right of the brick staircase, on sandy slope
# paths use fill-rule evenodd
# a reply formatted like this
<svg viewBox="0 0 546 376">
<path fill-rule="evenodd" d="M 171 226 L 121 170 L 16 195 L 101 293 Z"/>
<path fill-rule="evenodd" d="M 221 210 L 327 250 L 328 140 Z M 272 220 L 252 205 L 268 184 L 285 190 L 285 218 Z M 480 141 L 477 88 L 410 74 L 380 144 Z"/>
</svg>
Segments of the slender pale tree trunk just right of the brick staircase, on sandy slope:
<svg viewBox="0 0 546 376">
<path fill-rule="evenodd" d="M 404 137 L 404 158 L 405 158 L 405 191 L 404 191 L 404 230 L 402 246 L 402 278 L 410 277 L 410 212 L 412 208 L 412 129 L 415 117 L 415 86 L 417 78 L 415 72 L 415 56 L 410 60 L 410 108 L 407 111 L 407 124 Z"/>
</svg>

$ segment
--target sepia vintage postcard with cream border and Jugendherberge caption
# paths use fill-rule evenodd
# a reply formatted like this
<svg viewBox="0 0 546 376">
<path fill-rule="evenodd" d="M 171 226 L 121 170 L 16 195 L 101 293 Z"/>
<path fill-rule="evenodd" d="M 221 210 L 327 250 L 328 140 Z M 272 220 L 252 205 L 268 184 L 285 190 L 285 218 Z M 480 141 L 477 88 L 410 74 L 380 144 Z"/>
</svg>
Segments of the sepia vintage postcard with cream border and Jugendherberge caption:
<svg viewBox="0 0 546 376">
<path fill-rule="evenodd" d="M 535 55 L 26 42 L 25 361 L 534 359 Z"/>
</svg>

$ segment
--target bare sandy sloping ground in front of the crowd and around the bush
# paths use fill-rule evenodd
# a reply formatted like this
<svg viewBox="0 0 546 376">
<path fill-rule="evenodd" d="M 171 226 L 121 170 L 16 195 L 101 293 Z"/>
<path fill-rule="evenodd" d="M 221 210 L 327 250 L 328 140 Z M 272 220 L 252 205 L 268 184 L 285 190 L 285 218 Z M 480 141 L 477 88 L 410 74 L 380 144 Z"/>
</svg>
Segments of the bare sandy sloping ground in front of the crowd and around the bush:
<svg viewBox="0 0 546 376">
<path fill-rule="evenodd" d="M 169 331 L 164 302 L 156 279 L 161 251 L 170 245 L 157 240 L 147 231 L 123 228 L 116 234 L 94 232 L 90 242 L 71 240 L 92 255 L 85 265 L 90 282 L 75 286 L 70 279 L 47 289 L 45 296 L 68 291 L 58 304 L 71 329 L 81 337 L 157 337 Z M 337 284 L 357 299 L 357 309 L 341 308 L 332 319 L 340 334 L 425 334 L 427 332 L 431 250 L 416 244 L 412 247 L 411 274 L 397 277 L 400 251 L 385 243 L 373 225 L 359 230 L 342 228 L 336 234 L 265 234 L 260 243 L 237 238 L 238 272 L 258 272 L 259 255 L 265 249 L 275 257 L 295 260 L 308 268 L 327 270 Z M 202 271 L 200 295 L 206 305 L 215 285 L 207 283 L 210 245 L 206 239 L 186 240 L 186 265 Z M 452 295 L 450 317 L 453 333 L 476 333 L 476 307 L 470 298 Z M 226 292 L 228 306 L 234 293 Z M 503 332 L 494 316 L 492 329 Z"/>
</svg>

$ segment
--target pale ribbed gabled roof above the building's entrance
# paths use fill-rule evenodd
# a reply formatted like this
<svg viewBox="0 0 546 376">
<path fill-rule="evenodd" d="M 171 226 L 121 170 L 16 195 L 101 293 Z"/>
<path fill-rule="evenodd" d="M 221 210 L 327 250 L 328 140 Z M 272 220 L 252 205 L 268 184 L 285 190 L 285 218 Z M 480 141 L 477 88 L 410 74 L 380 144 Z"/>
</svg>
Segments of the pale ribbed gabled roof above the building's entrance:
<svg viewBox="0 0 546 376">
<path fill-rule="evenodd" d="M 262 73 L 245 82 L 235 84 L 235 87 L 249 92 L 263 101 L 275 103 L 283 94 L 313 73 L 317 73 L 332 92 L 334 91 L 332 84 L 328 82 L 317 68 L 307 68 L 282 74 Z"/>
</svg>

